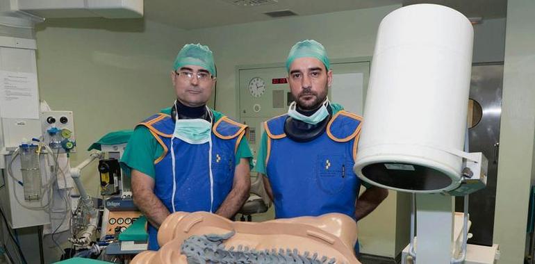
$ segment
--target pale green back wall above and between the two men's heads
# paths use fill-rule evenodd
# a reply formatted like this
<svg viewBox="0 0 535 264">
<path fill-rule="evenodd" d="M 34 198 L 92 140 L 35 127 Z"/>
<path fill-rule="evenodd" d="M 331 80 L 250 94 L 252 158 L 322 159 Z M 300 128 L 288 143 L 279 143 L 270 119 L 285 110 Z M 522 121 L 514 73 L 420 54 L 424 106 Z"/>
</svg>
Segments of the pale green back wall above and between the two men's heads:
<svg viewBox="0 0 535 264">
<path fill-rule="evenodd" d="M 188 32 L 208 44 L 217 63 L 217 108 L 236 117 L 236 65 L 283 63 L 295 42 L 315 39 L 331 59 L 371 56 L 381 19 L 400 6 L 290 17 Z"/>
</svg>

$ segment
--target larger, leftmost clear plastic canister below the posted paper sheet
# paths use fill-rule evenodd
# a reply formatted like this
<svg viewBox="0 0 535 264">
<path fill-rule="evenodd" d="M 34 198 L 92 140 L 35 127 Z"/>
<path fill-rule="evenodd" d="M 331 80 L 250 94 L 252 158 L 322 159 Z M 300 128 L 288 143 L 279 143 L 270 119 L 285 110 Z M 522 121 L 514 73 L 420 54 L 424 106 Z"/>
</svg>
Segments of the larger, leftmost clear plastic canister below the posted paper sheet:
<svg viewBox="0 0 535 264">
<path fill-rule="evenodd" d="M 33 201 L 41 199 L 41 170 L 36 145 L 20 146 L 20 170 L 24 184 L 24 199 Z"/>
</svg>

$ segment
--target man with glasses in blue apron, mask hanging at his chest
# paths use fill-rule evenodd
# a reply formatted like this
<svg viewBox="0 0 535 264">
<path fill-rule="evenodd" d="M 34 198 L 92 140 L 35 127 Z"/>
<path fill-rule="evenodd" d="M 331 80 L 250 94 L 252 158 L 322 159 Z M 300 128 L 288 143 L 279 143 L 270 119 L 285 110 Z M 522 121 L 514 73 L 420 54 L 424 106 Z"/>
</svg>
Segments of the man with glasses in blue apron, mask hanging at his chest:
<svg viewBox="0 0 535 264">
<path fill-rule="evenodd" d="M 249 197 L 247 126 L 206 106 L 216 81 L 213 54 L 186 44 L 174 60 L 176 100 L 135 127 L 121 164 L 149 221 L 149 249 L 167 215 L 208 211 L 231 218 Z"/>
</svg>

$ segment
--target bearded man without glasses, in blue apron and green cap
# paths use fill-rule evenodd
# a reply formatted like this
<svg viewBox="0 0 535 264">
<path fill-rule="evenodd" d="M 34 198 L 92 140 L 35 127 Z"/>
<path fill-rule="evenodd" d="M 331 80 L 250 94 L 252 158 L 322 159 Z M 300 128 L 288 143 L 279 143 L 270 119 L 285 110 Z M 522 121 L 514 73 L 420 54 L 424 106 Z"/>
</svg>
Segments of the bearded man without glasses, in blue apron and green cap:
<svg viewBox="0 0 535 264">
<path fill-rule="evenodd" d="M 361 181 L 353 165 L 362 117 L 329 102 L 333 73 L 319 42 L 297 42 L 286 70 L 295 101 L 288 114 L 265 122 L 255 167 L 264 176 L 275 217 L 343 213 L 361 220 L 388 195 L 363 183 L 366 190 L 359 197 Z"/>
</svg>

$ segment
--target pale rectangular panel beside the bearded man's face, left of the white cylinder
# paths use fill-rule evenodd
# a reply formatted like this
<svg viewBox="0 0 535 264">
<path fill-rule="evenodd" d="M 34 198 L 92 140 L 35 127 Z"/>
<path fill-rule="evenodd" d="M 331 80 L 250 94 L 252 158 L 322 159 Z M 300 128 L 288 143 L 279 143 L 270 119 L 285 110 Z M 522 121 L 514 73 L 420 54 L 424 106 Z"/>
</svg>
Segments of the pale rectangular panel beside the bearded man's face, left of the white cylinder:
<svg viewBox="0 0 535 264">
<path fill-rule="evenodd" d="M 362 73 L 333 74 L 331 98 L 333 103 L 341 104 L 346 111 L 362 115 L 364 109 Z"/>
</svg>

